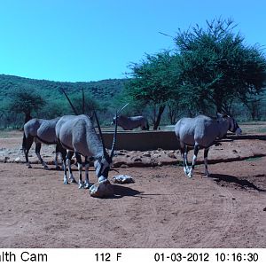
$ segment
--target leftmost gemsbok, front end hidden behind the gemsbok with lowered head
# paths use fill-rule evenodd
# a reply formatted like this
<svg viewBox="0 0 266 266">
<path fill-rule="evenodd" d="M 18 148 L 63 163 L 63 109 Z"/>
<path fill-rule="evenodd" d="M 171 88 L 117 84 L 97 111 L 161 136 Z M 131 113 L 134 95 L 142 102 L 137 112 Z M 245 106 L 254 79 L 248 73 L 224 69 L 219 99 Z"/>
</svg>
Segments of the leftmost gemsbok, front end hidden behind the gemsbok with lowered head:
<svg viewBox="0 0 266 266">
<path fill-rule="evenodd" d="M 44 168 L 48 168 L 48 166 L 45 163 L 45 161 L 43 161 L 43 158 L 41 157 L 40 154 L 42 144 L 56 145 L 56 155 L 54 163 L 56 168 L 59 168 L 58 164 L 59 149 L 57 145 L 57 137 L 55 131 L 56 123 L 58 121 L 59 117 L 51 120 L 33 118 L 27 121 L 27 123 L 24 125 L 22 150 L 25 154 L 26 164 L 28 168 L 31 168 L 31 165 L 28 161 L 28 152 L 34 141 L 35 141 L 35 153 Z"/>
</svg>

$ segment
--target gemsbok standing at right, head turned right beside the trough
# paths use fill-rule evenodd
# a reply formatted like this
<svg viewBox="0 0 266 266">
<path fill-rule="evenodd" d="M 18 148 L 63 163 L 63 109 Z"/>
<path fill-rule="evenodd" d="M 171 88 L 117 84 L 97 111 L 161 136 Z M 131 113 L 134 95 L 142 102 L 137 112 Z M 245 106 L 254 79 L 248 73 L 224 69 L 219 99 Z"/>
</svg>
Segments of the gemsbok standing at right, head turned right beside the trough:
<svg viewBox="0 0 266 266">
<path fill-rule="evenodd" d="M 180 142 L 180 151 L 184 160 L 185 175 L 192 177 L 199 149 L 204 148 L 205 175 L 209 176 L 209 172 L 207 171 L 207 153 L 209 147 L 214 145 L 217 138 L 224 137 L 228 130 L 237 135 L 242 132 L 235 119 L 220 113 L 217 115 L 216 119 L 205 115 L 198 115 L 194 118 L 182 118 L 177 121 L 175 133 Z M 194 147 L 191 168 L 189 168 L 187 162 L 187 146 Z"/>
</svg>

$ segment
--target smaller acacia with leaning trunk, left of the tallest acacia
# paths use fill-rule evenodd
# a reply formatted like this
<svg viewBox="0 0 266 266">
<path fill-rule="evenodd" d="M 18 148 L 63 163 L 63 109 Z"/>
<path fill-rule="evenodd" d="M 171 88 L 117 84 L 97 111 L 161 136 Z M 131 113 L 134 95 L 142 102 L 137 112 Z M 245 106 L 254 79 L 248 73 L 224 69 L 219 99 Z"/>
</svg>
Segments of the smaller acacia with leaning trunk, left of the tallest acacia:
<svg viewBox="0 0 266 266">
<path fill-rule="evenodd" d="M 153 129 L 158 129 L 168 99 L 177 89 L 171 79 L 171 64 L 170 52 L 163 51 L 155 55 L 146 55 L 146 59 L 141 63 L 129 66 L 132 78 L 127 82 L 127 91 L 131 97 L 152 106 Z"/>
</svg>

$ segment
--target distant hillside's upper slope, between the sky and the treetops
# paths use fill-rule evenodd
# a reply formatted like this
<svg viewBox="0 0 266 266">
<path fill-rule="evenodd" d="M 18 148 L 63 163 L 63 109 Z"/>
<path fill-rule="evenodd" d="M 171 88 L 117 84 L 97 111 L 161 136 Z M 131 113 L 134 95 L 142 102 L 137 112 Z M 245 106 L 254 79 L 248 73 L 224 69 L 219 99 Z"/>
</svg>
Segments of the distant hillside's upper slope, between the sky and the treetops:
<svg viewBox="0 0 266 266">
<path fill-rule="evenodd" d="M 10 96 L 12 90 L 20 88 L 35 90 L 46 99 L 62 98 L 61 89 L 72 95 L 81 93 L 83 88 L 91 98 L 106 102 L 121 92 L 125 81 L 124 79 L 108 79 L 98 82 L 51 82 L 0 74 L 0 101 Z"/>
</svg>

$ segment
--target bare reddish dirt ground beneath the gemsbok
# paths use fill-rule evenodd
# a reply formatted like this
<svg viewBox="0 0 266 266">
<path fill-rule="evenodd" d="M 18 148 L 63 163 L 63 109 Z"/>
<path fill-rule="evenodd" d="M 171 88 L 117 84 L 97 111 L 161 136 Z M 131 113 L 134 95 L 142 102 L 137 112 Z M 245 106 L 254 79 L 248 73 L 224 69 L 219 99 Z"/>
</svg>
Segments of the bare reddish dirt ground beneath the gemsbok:
<svg viewBox="0 0 266 266">
<path fill-rule="evenodd" d="M 266 134 L 243 131 L 211 148 L 210 177 L 201 163 L 184 176 L 176 151 L 119 151 L 110 180 L 125 174 L 135 183 L 113 184 L 110 199 L 64 185 L 52 165 L 27 168 L 21 132 L 4 133 L 0 247 L 266 247 Z M 44 160 L 52 151 L 43 146 Z M 90 181 L 97 181 L 93 168 Z"/>
</svg>

